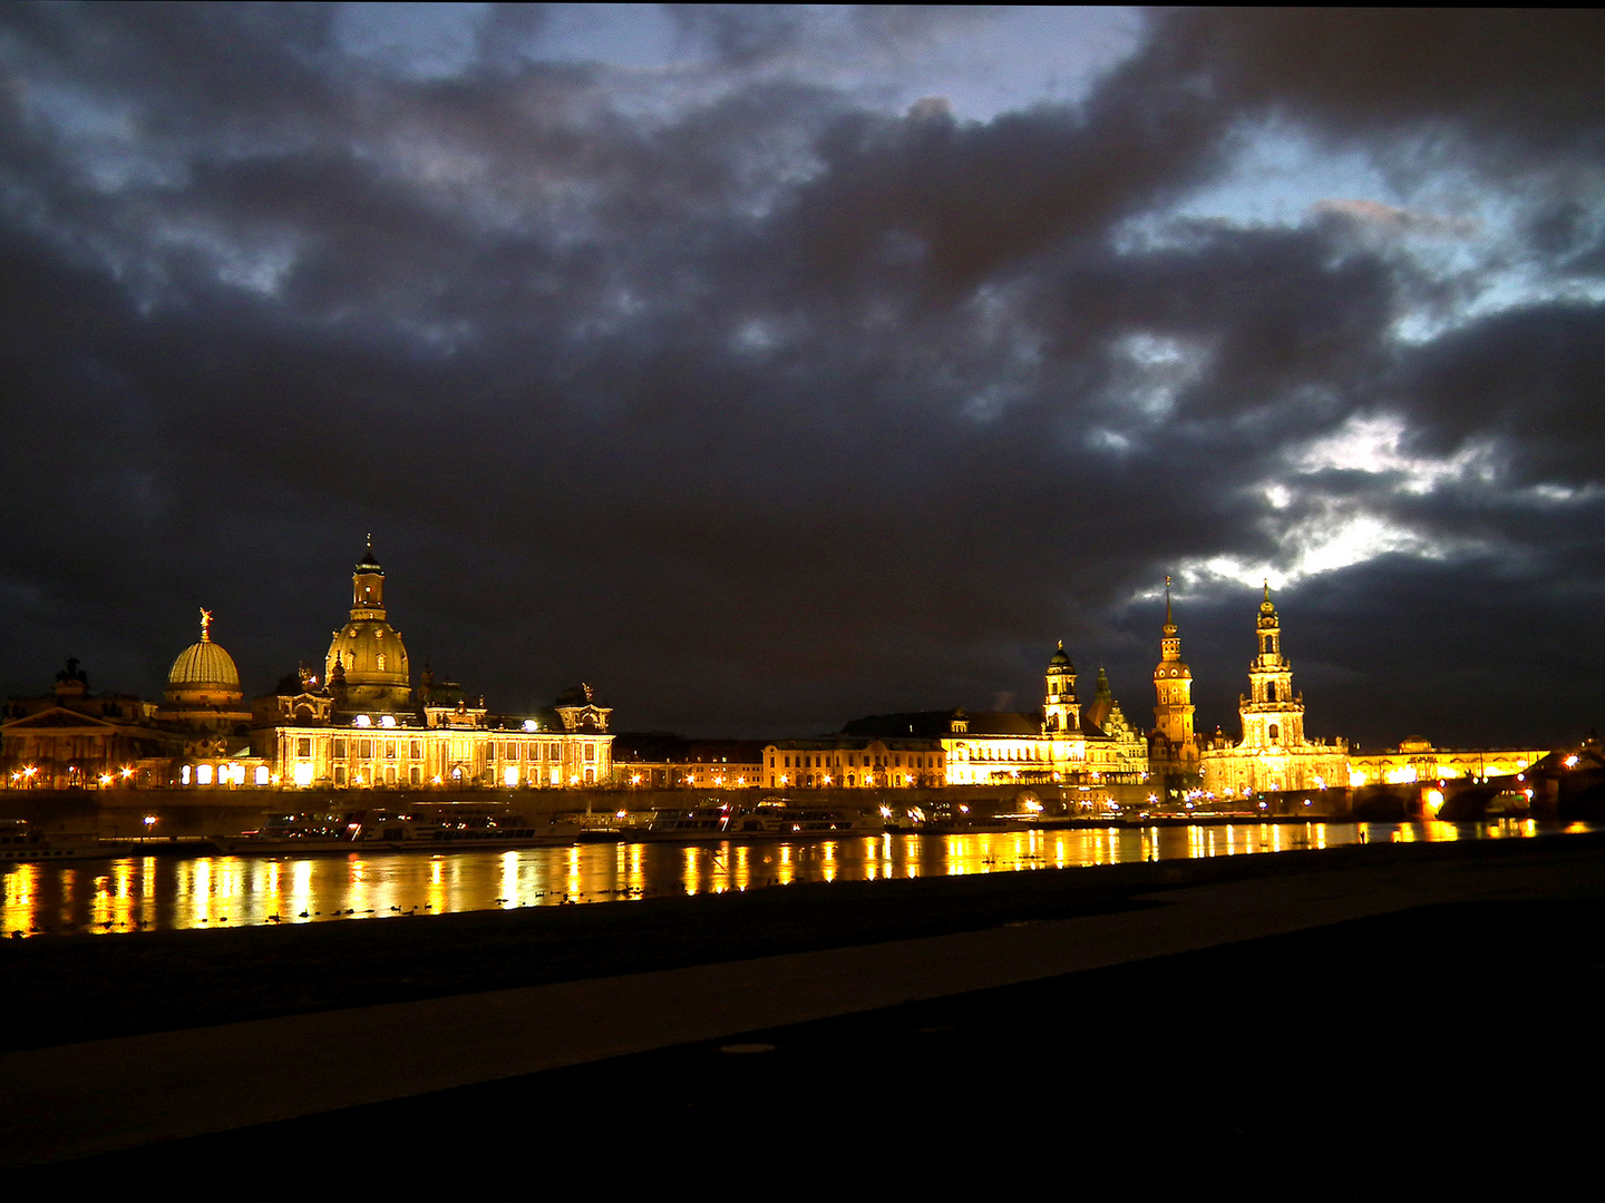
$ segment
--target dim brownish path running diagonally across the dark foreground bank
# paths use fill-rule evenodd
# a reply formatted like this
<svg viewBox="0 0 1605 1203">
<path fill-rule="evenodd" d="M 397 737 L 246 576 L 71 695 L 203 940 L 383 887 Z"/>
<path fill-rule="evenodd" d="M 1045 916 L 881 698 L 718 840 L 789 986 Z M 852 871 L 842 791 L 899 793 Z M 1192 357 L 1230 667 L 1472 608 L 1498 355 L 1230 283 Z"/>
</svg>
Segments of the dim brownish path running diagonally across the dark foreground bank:
<svg viewBox="0 0 1605 1203">
<path fill-rule="evenodd" d="M 1605 898 L 1605 855 L 1563 839 L 1546 844 L 1499 860 L 1186 887 L 1115 914 L 0 1054 L 0 1165 L 80 1158 L 1419 906 Z"/>
</svg>

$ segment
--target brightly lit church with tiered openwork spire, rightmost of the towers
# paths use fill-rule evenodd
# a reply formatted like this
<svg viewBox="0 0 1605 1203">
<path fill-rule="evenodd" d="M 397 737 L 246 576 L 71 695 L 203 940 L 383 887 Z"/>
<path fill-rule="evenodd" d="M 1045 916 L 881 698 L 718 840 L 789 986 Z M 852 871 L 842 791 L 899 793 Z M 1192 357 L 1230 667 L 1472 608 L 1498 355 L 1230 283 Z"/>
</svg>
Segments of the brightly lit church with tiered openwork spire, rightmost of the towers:
<svg viewBox="0 0 1605 1203">
<path fill-rule="evenodd" d="M 1323 789 L 1348 784 L 1348 744 L 1310 741 L 1303 730 L 1303 695 L 1294 693 L 1294 669 L 1282 654 L 1282 629 L 1265 585 L 1255 622 L 1260 651 L 1249 662 L 1249 695 L 1237 701 L 1242 741 L 1210 741 L 1201 754 L 1204 789 L 1241 796 L 1281 789 Z M 1178 646 L 1180 656 L 1180 646 Z"/>
</svg>

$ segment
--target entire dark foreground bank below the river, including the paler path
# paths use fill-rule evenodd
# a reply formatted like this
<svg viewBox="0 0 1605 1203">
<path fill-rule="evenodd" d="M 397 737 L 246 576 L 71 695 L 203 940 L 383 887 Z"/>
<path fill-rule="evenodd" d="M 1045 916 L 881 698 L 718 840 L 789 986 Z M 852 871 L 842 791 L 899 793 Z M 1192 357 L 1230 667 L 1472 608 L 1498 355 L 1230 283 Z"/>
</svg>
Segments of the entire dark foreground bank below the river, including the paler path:
<svg viewBox="0 0 1605 1203">
<path fill-rule="evenodd" d="M 18 945 L 79 1022 L 302 1012 L 0 1052 L 53 1189 L 1547 1198 L 1605 1068 L 1599 836 Z"/>
</svg>

